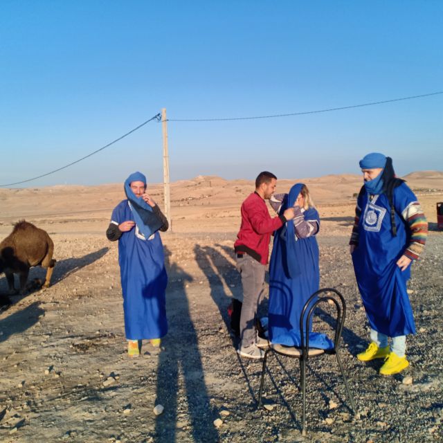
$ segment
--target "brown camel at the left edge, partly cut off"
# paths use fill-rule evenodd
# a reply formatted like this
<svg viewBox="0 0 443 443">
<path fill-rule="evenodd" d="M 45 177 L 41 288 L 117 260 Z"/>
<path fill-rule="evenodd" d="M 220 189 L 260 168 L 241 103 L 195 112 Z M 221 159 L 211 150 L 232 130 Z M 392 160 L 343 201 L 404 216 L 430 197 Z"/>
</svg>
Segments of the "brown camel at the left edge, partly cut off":
<svg viewBox="0 0 443 443">
<path fill-rule="evenodd" d="M 47 268 L 44 288 L 49 287 L 53 274 L 54 244 L 45 230 L 28 221 L 15 224 L 12 233 L 0 243 L 0 273 L 6 274 L 10 293 L 17 293 L 14 287 L 14 273 L 20 277 L 20 293 L 26 292 L 26 281 L 31 266 Z"/>
</svg>

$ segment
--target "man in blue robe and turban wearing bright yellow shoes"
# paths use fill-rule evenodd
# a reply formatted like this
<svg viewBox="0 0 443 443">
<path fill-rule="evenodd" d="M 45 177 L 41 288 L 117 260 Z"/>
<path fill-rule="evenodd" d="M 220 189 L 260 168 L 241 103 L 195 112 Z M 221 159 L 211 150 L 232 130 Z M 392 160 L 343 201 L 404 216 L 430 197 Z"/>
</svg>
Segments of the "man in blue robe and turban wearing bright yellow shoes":
<svg viewBox="0 0 443 443">
<path fill-rule="evenodd" d="M 364 186 L 356 205 L 350 251 L 370 325 L 361 361 L 385 359 L 383 375 L 408 367 L 406 334 L 415 334 L 406 284 L 424 248 L 427 222 L 414 193 L 397 179 L 392 159 L 374 152 L 360 161 Z M 392 344 L 388 345 L 388 338 Z"/>
</svg>

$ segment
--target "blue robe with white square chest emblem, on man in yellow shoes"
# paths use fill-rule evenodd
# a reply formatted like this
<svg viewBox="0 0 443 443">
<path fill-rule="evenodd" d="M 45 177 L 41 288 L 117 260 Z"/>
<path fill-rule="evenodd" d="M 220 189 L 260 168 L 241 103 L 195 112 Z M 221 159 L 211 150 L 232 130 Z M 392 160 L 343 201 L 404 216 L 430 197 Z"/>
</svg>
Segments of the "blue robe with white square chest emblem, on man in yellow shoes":
<svg viewBox="0 0 443 443">
<path fill-rule="evenodd" d="M 389 337 L 397 337 L 415 334 L 413 311 L 406 291 L 410 265 L 401 271 L 397 260 L 410 240 L 408 225 L 400 215 L 410 203 L 417 201 L 417 197 L 406 183 L 402 183 L 395 188 L 392 201 L 397 236 L 392 235 L 388 197 L 380 194 L 370 201 L 367 192 L 359 197 L 359 246 L 352 253 L 352 262 L 370 327 Z"/>
</svg>

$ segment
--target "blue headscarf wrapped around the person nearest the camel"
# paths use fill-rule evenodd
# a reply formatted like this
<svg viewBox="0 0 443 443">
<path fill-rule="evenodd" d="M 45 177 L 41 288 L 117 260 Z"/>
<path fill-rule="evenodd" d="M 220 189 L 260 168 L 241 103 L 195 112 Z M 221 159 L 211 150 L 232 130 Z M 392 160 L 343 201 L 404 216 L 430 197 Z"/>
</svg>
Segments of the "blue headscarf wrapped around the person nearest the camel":
<svg viewBox="0 0 443 443">
<path fill-rule="evenodd" d="M 153 213 L 152 207 L 143 200 L 142 197 L 136 197 L 131 189 L 133 181 L 142 181 L 146 186 L 146 177 L 141 172 L 134 172 L 129 175 L 125 181 L 125 194 L 131 204 L 132 214 L 138 227 L 138 230 L 149 238 L 156 230 L 161 228 L 161 220 Z"/>
</svg>

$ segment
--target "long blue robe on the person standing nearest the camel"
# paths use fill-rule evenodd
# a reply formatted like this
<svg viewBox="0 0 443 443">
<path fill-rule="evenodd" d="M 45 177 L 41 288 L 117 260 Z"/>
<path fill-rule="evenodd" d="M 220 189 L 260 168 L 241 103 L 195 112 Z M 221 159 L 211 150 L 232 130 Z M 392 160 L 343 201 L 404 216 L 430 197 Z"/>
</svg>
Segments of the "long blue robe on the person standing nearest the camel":
<svg viewBox="0 0 443 443">
<path fill-rule="evenodd" d="M 111 223 L 134 219 L 128 201 L 112 213 Z M 118 240 L 125 335 L 128 340 L 161 338 L 168 332 L 165 291 L 168 275 L 159 232 L 145 239 L 134 226 Z"/>
</svg>

